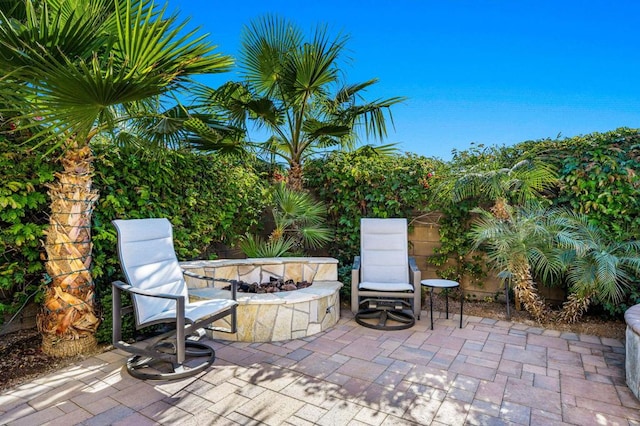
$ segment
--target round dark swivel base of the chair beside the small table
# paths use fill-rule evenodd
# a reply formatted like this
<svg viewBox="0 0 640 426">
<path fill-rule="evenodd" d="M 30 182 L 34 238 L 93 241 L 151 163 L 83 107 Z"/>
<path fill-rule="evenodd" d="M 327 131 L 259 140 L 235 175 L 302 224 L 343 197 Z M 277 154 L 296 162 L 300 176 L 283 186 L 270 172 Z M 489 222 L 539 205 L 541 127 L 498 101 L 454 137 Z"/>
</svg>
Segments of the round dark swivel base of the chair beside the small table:
<svg viewBox="0 0 640 426">
<path fill-rule="evenodd" d="M 363 327 L 375 330 L 405 330 L 416 323 L 411 305 L 404 300 L 365 299 L 360 306 L 355 320 Z"/>
</svg>

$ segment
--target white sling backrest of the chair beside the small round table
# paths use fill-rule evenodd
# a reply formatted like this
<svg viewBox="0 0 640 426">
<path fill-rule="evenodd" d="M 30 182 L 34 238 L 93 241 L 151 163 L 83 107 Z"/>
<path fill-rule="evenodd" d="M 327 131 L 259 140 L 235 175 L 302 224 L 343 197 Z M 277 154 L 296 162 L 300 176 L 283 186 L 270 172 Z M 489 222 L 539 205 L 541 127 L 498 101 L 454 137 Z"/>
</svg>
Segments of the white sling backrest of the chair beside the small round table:
<svg viewBox="0 0 640 426">
<path fill-rule="evenodd" d="M 407 219 L 360 220 L 361 280 L 409 282 Z"/>
</svg>

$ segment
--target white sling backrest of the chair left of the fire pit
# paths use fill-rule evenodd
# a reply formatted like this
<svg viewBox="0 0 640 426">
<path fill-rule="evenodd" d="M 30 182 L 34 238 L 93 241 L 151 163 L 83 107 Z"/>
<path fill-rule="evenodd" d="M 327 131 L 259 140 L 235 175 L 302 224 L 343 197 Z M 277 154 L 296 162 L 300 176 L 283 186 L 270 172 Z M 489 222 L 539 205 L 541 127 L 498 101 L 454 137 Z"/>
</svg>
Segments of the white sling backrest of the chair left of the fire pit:
<svg viewBox="0 0 640 426">
<path fill-rule="evenodd" d="M 173 229 L 167 219 L 114 220 L 118 231 L 118 257 L 128 284 L 155 293 L 187 298 L 187 283 L 173 248 Z M 134 296 L 136 322 L 175 308 L 175 301 Z"/>
</svg>

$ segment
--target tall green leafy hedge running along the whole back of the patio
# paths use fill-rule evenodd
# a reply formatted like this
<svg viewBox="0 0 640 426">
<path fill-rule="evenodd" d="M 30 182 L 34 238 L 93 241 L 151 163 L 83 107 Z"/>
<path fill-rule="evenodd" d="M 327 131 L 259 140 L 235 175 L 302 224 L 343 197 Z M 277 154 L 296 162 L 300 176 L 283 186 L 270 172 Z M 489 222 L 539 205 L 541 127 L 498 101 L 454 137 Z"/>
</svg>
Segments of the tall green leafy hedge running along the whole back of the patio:
<svg viewBox="0 0 640 426">
<path fill-rule="evenodd" d="M 48 220 L 46 184 L 58 169 L 58 153 L 0 132 L 0 321 L 25 301 L 40 295 L 44 275 L 43 231 Z M 215 155 L 148 151 L 99 145 L 95 185 L 100 200 L 93 219 L 94 276 L 105 306 L 109 340 L 110 282 L 119 276 L 115 218 L 168 217 L 174 224 L 180 259 L 214 257 L 217 243 L 233 243 L 256 225 L 263 211 L 261 177 L 250 163 Z M 585 212 L 622 240 L 640 236 L 640 134 L 618 129 L 562 140 L 527 141 L 510 147 L 477 147 L 456 152 L 451 163 L 513 165 L 522 157 L 555 164 L 561 185 L 555 203 Z M 359 252 L 361 217 L 413 218 L 428 209 L 431 177 L 443 174 L 440 161 L 413 154 L 378 156 L 371 152 L 333 153 L 307 162 L 306 186 L 328 207 L 336 237 L 327 251 L 342 264 L 346 281 Z M 460 236 L 469 206 L 443 220 L 447 235 Z M 455 220 L 453 220 L 455 219 Z M 450 229 L 447 230 L 446 227 Z M 447 233 L 448 232 L 448 233 Z M 455 257 L 461 238 L 449 238 Z M 106 296 L 106 297 L 103 297 Z M 640 302 L 637 286 L 627 303 Z M 625 304 L 625 305 L 626 305 Z M 619 313 L 625 305 L 606 307 Z"/>
</svg>

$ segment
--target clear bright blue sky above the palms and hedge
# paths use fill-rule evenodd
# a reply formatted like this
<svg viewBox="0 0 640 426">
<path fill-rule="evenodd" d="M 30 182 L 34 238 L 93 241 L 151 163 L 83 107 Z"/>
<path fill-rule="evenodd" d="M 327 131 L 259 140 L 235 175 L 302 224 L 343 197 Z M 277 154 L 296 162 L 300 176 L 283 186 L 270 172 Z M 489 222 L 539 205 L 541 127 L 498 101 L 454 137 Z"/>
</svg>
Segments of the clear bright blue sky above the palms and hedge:
<svg viewBox="0 0 640 426">
<path fill-rule="evenodd" d="M 219 52 L 275 14 L 350 36 L 349 83 L 406 96 L 387 142 L 450 159 L 470 143 L 513 144 L 640 127 L 637 0 L 169 0 Z M 217 86 L 234 73 L 210 81 Z"/>
</svg>

